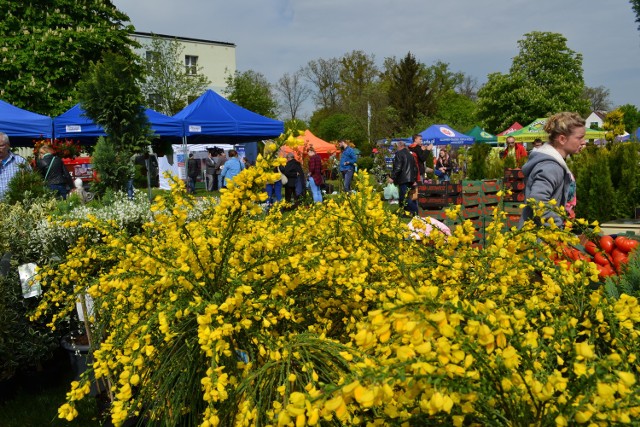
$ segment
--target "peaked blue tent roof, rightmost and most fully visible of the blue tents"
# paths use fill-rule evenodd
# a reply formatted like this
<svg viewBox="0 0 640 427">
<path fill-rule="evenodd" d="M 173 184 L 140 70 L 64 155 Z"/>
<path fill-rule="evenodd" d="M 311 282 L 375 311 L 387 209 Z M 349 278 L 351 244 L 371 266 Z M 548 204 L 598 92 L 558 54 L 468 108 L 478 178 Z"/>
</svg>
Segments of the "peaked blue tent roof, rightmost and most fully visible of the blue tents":
<svg viewBox="0 0 640 427">
<path fill-rule="evenodd" d="M 226 100 L 211 89 L 173 116 L 184 123 L 188 137 L 206 135 L 228 142 L 259 141 L 284 132 L 284 123 Z"/>
</svg>

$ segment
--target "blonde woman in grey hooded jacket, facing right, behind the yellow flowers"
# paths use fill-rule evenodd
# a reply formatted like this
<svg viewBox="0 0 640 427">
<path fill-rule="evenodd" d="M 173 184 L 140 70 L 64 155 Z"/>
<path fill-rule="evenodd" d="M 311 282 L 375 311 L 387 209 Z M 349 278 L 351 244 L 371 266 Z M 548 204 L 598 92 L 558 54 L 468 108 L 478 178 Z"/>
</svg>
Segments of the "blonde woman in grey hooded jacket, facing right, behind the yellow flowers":
<svg viewBox="0 0 640 427">
<path fill-rule="evenodd" d="M 522 167 L 525 176 L 525 197 L 537 202 L 556 201 L 557 206 L 564 206 L 570 218 L 575 217 L 576 180 L 567 166 L 566 159 L 579 153 L 586 145 L 585 120 L 577 113 L 563 112 L 551 116 L 544 125 L 549 134 L 549 142 L 531 152 L 529 161 Z M 524 221 L 533 218 L 533 210 L 527 206 L 522 211 L 520 226 Z M 564 225 L 562 218 L 555 212 L 547 210 L 541 220 L 553 218 L 558 227 Z"/>
</svg>

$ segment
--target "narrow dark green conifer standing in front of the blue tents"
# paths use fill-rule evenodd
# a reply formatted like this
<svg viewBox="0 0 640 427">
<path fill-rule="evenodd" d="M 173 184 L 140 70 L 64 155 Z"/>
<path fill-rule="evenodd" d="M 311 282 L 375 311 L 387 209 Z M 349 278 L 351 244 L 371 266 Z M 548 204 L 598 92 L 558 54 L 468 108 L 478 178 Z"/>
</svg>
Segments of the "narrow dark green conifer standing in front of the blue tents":
<svg viewBox="0 0 640 427">
<path fill-rule="evenodd" d="M 94 150 L 94 167 L 100 181 L 94 189 L 123 190 L 133 177 L 133 153 L 147 149 L 151 127 L 140 90 L 142 66 L 128 57 L 106 53 L 93 63 L 78 84 L 82 108 L 101 125 L 108 137 Z"/>
</svg>

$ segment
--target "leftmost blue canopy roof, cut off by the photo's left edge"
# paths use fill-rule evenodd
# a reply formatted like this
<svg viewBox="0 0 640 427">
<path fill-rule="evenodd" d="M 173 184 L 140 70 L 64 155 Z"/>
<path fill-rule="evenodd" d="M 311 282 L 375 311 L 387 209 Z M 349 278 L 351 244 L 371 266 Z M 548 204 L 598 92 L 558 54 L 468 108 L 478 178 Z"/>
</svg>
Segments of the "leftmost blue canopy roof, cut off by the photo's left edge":
<svg viewBox="0 0 640 427">
<path fill-rule="evenodd" d="M 51 117 L 23 110 L 0 100 L 0 132 L 9 135 L 11 145 L 32 146 L 35 138 L 51 138 Z"/>
</svg>

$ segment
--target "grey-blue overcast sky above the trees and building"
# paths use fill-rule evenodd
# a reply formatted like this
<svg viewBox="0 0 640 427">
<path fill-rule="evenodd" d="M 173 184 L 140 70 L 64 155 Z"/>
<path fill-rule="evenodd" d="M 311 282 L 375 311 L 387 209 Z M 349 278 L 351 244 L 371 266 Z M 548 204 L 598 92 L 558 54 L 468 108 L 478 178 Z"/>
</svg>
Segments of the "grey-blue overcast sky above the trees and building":
<svg viewBox="0 0 640 427">
<path fill-rule="evenodd" d="M 628 0 L 113 0 L 137 31 L 236 45 L 239 71 L 272 83 L 308 61 L 353 50 L 475 77 L 507 73 L 531 31 L 564 35 L 587 86 L 640 107 L 640 32 Z"/>
</svg>

